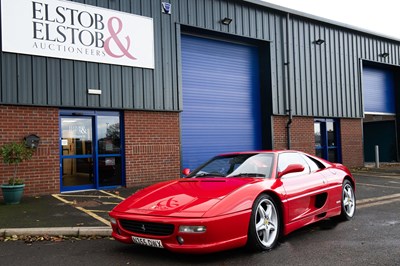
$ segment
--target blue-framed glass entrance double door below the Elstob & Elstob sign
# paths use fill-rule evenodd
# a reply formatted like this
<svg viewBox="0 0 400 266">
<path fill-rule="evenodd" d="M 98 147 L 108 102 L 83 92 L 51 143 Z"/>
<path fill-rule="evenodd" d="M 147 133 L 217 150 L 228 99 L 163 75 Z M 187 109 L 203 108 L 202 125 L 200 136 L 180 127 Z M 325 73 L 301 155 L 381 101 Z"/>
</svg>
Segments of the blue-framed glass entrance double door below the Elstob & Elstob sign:
<svg viewBox="0 0 400 266">
<path fill-rule="evenodd" d="M 118 113 L 60 117 L 61 191 L 122 185 Z"/>
</svg>

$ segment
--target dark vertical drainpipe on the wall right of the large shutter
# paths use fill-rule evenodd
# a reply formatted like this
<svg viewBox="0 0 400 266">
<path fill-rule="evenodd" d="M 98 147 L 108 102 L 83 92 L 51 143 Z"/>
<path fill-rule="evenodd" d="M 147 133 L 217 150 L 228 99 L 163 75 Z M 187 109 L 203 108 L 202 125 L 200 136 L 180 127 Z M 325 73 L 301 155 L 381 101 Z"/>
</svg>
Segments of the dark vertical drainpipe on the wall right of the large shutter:
<svg viewBox="0 0 400 266">
<path fill-rule="evenodd" d="M 289 114 L 289 119 L 286 123 L 286 136 L 287 136 L 287 149 L 291 149 L 291 124 L 293 121 L 292 116 L 292 97 L 290 92 L 290 14 L 286 15 L 286 95 L 287 95 L 287 110 L 286 112 Z"/>
</svg>

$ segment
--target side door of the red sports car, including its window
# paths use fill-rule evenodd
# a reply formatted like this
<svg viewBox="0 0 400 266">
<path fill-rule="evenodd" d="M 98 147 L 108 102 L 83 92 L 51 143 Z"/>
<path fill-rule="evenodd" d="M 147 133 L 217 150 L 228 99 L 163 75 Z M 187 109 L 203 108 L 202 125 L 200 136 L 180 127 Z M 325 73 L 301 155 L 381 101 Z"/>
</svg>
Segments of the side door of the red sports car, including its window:
<svg viewBox="0 0 400 266">
<path fill-rule="evenodd" d="M 283 175 L 281 181 L 288 203 L 287 222 L 313 219 L 326 209 L 327 181 L 315 167 L 311 168 L 302 154 L 296 152 L 281 153 L 278 157 L 278 172 L 290 164 L 301 164 L 304 171 Z"/>
</svg>

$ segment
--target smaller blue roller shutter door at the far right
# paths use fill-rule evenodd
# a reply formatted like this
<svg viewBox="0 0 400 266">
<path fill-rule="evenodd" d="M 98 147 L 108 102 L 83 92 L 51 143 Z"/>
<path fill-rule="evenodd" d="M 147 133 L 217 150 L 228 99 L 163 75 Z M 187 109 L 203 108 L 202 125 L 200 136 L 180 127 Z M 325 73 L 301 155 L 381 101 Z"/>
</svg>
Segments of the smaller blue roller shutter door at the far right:
<svg viewBox="0 0 400 266">
<path fill-rule="evenodd" d="M 386 69 L 363 68 L 364 111 L 396 113 L 393 73 Z"/>
</svg>

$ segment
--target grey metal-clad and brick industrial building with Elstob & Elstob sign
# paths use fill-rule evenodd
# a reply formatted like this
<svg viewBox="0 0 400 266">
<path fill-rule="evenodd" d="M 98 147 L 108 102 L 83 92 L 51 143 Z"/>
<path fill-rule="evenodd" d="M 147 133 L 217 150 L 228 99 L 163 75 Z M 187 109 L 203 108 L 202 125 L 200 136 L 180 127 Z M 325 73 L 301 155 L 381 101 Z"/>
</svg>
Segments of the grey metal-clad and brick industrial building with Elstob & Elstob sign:
<svg viewBox="0 0 400 266">
<path fill-rule="evenodd" d="M 39 138 L 26 195 L 231 151 L 398 161 L 400 40 L 379 33 L 258 0 L 2 0 L 1 33 L 0 146 Z"/>
</svg>

